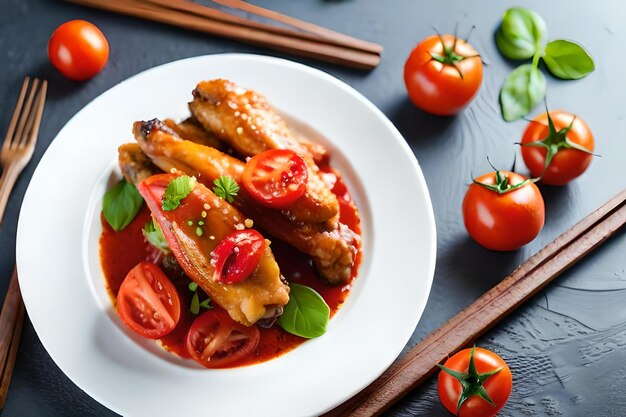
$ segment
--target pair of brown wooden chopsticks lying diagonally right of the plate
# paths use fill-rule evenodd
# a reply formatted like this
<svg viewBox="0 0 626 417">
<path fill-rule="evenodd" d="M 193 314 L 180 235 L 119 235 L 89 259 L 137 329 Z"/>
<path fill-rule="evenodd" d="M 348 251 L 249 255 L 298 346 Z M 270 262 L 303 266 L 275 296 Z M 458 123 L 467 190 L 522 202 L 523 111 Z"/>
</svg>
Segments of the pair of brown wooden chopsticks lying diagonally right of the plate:
<svg viewBox="0 0 626 417">
<path fill-rule="evenodd" d="M 429 334 L 363 391 L 324 414 L 377 416 L 432 375 L 626 223 L 626 189 L 529 258 L 500 284 Z"/>
</svg>

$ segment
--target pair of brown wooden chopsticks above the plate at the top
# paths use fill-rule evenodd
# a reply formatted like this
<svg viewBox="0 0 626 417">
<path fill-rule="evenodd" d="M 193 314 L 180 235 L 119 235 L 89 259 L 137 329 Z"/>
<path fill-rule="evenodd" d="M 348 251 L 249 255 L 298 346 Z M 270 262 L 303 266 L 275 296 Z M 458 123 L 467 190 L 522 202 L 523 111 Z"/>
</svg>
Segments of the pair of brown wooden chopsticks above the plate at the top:
<svg viewBox="0 0 626 417">
<path fill-rule="evenodd" d="M 82 6 L 154 20 L 357 69 L 380 63 L 382 46 L 304 22 L 242 0 L 214 3 L 271 19 L 281 27 L 187 0 L 66 0 Z"/>
</svg>

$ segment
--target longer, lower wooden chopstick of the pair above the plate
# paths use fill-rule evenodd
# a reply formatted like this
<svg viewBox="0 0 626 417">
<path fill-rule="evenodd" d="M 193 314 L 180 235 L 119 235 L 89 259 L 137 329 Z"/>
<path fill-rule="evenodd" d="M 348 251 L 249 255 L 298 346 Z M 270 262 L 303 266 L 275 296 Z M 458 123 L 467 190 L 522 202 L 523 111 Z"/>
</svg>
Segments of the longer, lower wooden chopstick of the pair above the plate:
<svg viewBox="0 0 626 417">
<path fill-rule="evenodd" d="M 255 45 L 262 45 L 279 51 L 316 58 L 357 69 L 373 69 L 380 63 L 380 56 L 370 52 L 326 44 L 314 40 L 285 36 L 253 27 L 241 27 L 236 24 L 216 21 L 140 0 L 66 1 L 82 6 L 94 7 L 167 23 L 185 29 L 236 39 Z"/>
</svg>

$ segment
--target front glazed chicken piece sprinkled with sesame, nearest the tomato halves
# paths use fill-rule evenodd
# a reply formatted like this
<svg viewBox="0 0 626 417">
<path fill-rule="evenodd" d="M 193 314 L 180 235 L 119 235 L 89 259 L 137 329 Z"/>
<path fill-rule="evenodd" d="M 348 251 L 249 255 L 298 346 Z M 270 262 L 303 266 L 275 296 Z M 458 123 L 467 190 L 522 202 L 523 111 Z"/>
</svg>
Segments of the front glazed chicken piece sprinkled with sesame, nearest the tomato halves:
<svg viewBox="0 0 626 417">
<path fill-rule="evenodd" d="M 187 276 L 231 318 L 245 326 L 280 315 L 289 301 L 289 286 L 280 275 L 269 241 L 265 241 L 261 261 L 252 275 L 233 284 L 216 281 L 210 254 L 224 237 L 242 228 L 245 216 L 201 183 L 195 183 L 178 208 L 163 210 L 163 194 L 176 176 L 153 175 L 142 180 L 137 189 Z M 194 220 L 194 224 L 189 225 L 188 222 Z M 199 220 L 203 222 L 201 228 Z M 202 232 L 198 232 L 199 229 Z"/>
</svg>

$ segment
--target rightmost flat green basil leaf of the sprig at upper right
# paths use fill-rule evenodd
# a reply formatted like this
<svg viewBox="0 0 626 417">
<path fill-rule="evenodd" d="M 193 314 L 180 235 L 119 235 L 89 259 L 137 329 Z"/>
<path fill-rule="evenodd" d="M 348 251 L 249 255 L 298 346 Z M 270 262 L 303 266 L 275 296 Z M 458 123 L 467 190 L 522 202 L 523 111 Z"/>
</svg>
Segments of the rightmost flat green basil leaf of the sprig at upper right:
<svg viewBox="0 0 626 417">
<path fill-rule="evenodd" d="M 563 39 L 546 45 L 543 60 L 552 74 L 564 80 L 578 80 L 595 69 L 593 59 L 585 48 Z"/>
</svg>

